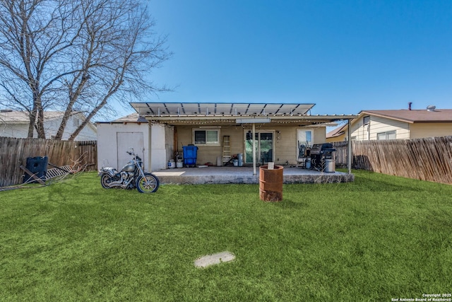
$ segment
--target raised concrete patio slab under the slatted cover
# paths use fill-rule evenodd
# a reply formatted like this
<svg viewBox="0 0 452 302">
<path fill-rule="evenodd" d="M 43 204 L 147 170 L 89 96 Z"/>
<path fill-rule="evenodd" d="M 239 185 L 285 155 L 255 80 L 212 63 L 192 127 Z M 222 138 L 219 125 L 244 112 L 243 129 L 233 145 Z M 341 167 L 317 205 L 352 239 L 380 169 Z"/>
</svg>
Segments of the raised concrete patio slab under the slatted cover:
<svg viewBox="0 0 452 302">
<path fill-rule="evenodd" d="M 258 184 L 259 168 L 253 175 L 252 167 L 174 168 L 153 171 L 161 184 Z M 355 175 L 343 172 L 322 173 L 316 170 L 284 166 L 283 183 L 352 182 Z"/>
</svg>

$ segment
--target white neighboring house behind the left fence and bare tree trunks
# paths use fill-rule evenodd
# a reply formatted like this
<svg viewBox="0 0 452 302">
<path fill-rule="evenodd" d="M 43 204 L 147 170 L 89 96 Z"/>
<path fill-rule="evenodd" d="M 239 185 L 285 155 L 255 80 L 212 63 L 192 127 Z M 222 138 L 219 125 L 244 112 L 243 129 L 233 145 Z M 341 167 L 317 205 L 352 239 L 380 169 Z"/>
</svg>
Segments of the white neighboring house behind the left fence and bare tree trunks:
<svg viewBox="0 0 452 302">
<path fill-rule="evenodd" d="M 52 139 L 58 131 L 64 112 L 61 111 L 44 111 L 44 129 L 47 139 Z M 74 112 L 66 124 L 66 129 L 62 139 L 67 140 L 78 126 L 85 120 L 85 116 L 81 112 Z M 0 110 L 0 137 L 28 137 L 28 125 L 30 118 L 27 112 Z M 33 137 L 37 137 L 35 129 Z M 97 138 L 96 127 L 93 123 L 88 124 L 76 137 L 76 141 L 93 141 Z"/>
</svg>

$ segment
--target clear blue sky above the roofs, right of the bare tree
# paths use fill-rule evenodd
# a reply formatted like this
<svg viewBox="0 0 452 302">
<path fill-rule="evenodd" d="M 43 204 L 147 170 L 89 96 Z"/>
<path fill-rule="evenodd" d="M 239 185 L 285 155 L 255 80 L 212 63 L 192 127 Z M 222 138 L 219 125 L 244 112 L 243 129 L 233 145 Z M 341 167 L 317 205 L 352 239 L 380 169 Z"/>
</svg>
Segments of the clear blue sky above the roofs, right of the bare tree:
<svg viewBox="0 0 452 302">
<path fill-rule="evenodd" d="M 152 0 L 176 86 L 143 101 L 452 108 L 452 1 Z M 131 110 L 132 112 L 133 110 Z"/>
</svg>

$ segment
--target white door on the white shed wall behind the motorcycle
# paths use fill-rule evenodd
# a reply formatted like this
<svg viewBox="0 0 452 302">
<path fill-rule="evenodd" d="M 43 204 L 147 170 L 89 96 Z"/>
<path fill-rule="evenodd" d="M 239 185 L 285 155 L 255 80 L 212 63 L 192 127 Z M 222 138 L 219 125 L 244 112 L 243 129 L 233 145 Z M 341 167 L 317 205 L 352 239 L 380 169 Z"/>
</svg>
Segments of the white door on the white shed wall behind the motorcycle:
<svg viewBox="0 0 452 302">
<path fill-rule="evenodd" d="M 124 165 L 131 160 L 131 156 L 126 152 L 133 148 L 133 151 L 144 161 L 144 140 L 143 132 L 117 132 L 117 168 L 121 170 Z"/>
</svg>

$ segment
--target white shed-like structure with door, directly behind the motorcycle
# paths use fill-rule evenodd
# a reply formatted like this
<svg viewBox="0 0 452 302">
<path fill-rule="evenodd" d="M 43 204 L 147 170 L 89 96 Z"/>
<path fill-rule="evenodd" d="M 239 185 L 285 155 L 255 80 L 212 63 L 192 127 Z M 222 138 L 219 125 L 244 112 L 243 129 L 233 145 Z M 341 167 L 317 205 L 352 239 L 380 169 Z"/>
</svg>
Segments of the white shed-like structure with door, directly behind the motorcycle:
<svg viewBox="0 0 452 302">
<path fill-rule="evenodd" d="M 148 120 L 138 113 L 121 117 L 112 122 L 96 122 L 97 125 L 97 167 L 121 169 L 131 156 L 130 148 L 143 159 L 145 171 L 160 170 L 167 167 L 173 158 L 173 127 L 153 123 L 149 132 Z M 152 137 L 152 168 L 149 167 L 149 142 Z"/>
</svg>

